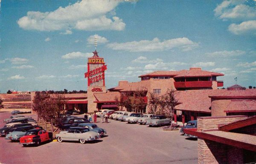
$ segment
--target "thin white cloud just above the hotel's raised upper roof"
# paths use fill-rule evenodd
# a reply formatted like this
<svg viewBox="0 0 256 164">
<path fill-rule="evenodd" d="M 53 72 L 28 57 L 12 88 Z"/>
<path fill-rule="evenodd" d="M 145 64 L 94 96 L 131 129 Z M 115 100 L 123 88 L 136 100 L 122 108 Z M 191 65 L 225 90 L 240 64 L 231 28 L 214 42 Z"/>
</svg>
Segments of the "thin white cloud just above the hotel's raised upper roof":
<svg viewBox="0 0 256 164">
<path fill-rule="evenodd" d="M 187 63 L 183 62 L 170 62 L 170 63 L 164 63 L 164 62 L 157 62 L 155 64 L 147 64 L 145 65 L 144 69 L 146 70 L 170 70 L 170 67 L 174 66 L 181 66 L 186 65 Z"/>
</svg>

